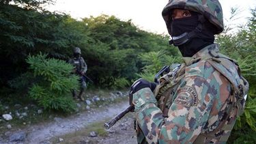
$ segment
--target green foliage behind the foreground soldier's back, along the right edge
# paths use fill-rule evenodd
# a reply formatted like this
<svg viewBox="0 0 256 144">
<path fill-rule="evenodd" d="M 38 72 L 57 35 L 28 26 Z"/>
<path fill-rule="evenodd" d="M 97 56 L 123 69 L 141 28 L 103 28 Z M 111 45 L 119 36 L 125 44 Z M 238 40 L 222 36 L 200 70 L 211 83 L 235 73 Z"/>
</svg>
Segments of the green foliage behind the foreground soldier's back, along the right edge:
<svg viewBox="0 0 256 144">
<path fill-rule="evenodd" d="M 217 38 L 218 43 L 221 44 L 222 53 L 238 60 L 242 75 L 249 83 L 249 93 L 244 114 L 236 122 L 235 130 L 231 135 L 231 141 L 235 143 L 240 143 L 241 141 L 255 143 L 253 134 L 256 132 L 256 62 L 254 59 L 256 55 L 256 11 L 252 10 L 251 13 L 253 16 L 249 18 L 245 29 L 240 29 L 235 35 L 226 31 L 226 33 L 219 35 Z M 248 137 L 251 140 L 248 141 Z"/>
</svg>

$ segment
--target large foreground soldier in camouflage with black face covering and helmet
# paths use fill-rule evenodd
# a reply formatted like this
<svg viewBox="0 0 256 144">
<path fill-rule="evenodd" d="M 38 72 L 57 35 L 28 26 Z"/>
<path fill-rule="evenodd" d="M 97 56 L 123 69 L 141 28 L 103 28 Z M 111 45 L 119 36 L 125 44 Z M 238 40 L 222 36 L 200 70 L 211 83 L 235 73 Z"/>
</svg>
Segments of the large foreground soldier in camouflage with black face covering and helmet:
<svg viewBox="0 0 256 144">
<path fill-rule="evenodd" d="M 162 16 L 184 63 L 150 83 L 132 84 L 138 143 L 226 143 L 243 113 L 248 82 L 235 60 L 218 53 L 218 0 L 170 0 Z"/>
</svg>

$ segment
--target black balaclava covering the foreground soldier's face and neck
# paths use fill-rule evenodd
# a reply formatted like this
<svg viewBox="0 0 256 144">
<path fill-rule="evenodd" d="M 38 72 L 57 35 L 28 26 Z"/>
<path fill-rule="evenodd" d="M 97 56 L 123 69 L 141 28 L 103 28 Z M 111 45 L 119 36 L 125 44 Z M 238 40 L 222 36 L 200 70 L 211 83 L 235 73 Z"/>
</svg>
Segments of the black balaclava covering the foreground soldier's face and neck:
<svg viewBox="0 0 256 144">
<path fill-rule="evenodd" d="M 180 49 L 183 57 L 192 57 L 202 48 L 214 42 L 214 26 L 208 20 L 201 22 L 198 13 L 191 12 L 191 16 L 189 17 L 175 18 L 172 20 L 172 37 L 190 33 L 191 31 L 195 31 L 196 33 L 193 38 L 190 38 L 184 44 L 176 45 Z"/>
</svg>

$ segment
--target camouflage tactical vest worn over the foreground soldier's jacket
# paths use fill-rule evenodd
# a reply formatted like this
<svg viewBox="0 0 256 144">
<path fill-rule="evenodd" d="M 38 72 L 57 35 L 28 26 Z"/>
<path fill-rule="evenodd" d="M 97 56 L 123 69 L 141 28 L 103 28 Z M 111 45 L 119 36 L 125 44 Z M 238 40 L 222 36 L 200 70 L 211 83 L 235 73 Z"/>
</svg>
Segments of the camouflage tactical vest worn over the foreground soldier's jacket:
<svg viewBox="0 0 256 144">
<path fill-rule="evenodd" d="M 235 120 L 230 122 L 230 119 L 236 119 L 239 115 L 242 115 L 244 111 L 244 104 L 246 100 L 246 94 L 248 92 L 248 82 L 240 74 L 240 68 L 238 64 L 233 59 L 216 53 L 215 51 L 209 51 L 209 55 L 204 57 L 199 57 L 194 59 L 197 61 L 208 61 L 211 66 L 217 70 L 219 73 L 223 74 L 225 78 L 231 83 L 231 93 L 230 93 L 230 102 L 231 104 L 227 107 L 226 113 L 228 114 L 223 120 L 218 124 L 218 126 L 212 132 L 201 132 L 194 143 L 209 143 L 209 139 L 218 139 L 216 143 L 225 143 L 229 137 L 228 135 L 220 134 L 216 136 L 218 132 L 231 131 L 235 124 Z M 238 68 L 238 78 L 232 78 L 228 68 L 230 64 L 237 66 Z M 177 91 L 178 86 L 181 83 L 182 78 L 185 76 L 186 64 L 183 63 L 179 68 L 169 72 L 162 76 L 159 81 L 160 84 L 156 87 L 154 95 L 156 100 L 158 100 L 158 107 L 162 110 L 163 117 L 168 117 L 167 113 L 169 107 L 173 102 L 173 96 Z"/>
</svg>

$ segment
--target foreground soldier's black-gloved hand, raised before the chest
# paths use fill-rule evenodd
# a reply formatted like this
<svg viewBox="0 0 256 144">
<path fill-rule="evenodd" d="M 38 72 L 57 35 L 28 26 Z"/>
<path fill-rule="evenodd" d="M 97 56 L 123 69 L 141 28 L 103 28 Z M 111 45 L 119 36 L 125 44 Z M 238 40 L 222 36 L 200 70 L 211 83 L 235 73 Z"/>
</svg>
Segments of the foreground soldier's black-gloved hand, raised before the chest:
<svg viewBox="0 0 256 144">
<path fill-rule="evenodd" d="M 130 87 L 130 92 L 129 92 L 129 102 L 130 105 L 134 105 L 132 100 L 133 100 L 133 94 L 136 93 L 137 91 L 149 87 L 151 91 L 153 92 L 154 89 L 156 88 L 156 83 L 150 83 L 149 81 L 146 81 L 142 78 L 139 78 L 137 81 L 135 81 L 132 86 Z"/>
</svg>

